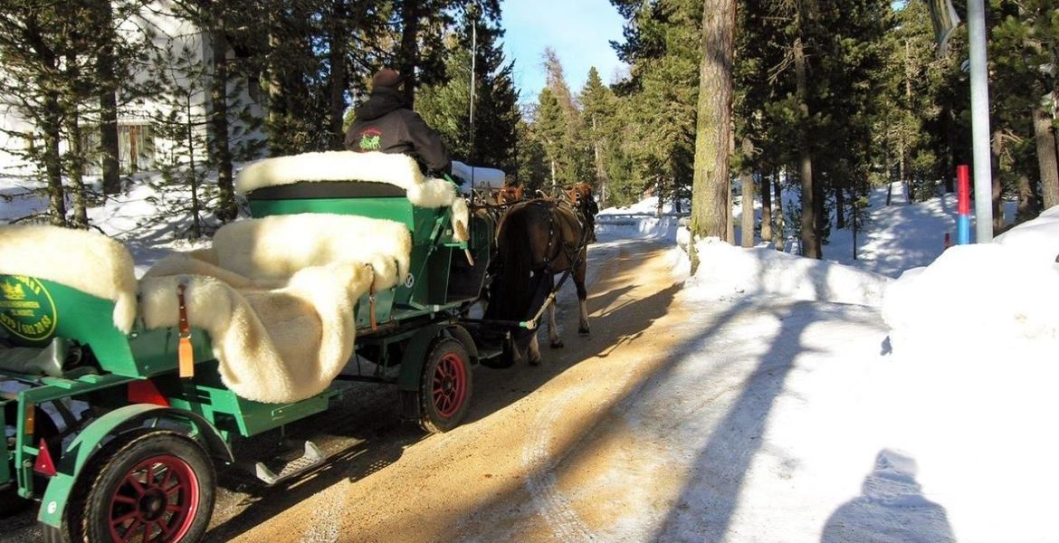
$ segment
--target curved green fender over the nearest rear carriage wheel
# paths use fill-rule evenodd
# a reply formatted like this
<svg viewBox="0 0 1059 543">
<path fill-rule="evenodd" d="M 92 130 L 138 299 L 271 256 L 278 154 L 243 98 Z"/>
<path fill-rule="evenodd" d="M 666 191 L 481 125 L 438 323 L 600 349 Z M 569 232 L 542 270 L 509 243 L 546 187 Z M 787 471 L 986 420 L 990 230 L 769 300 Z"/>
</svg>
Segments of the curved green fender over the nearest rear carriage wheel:
<svg viewBox="0 0 1059 543">
<path fill-rule="evenodd" d="M 220 432 L 202 416 L 182 410 L 138 403 L 119 408 L 94 420 L 62 451 L 58 461 L 57 473 L 48 482 L 44 494 L 40 500 L 40 512 L 37 520 L 56 528 L 62 526 L 66 506 L 70 493 L 74 489 L 77 476 L 89 459 L 103 446 L 104 441 L 116 435 L 115 430 L 130 422 L 151 418 L 167 418 L 191 422 L 192 427 L 202 436 L 211 456 L 227 463 L 234 460 L 232 450 L 220 435 Z"/>
</svg>

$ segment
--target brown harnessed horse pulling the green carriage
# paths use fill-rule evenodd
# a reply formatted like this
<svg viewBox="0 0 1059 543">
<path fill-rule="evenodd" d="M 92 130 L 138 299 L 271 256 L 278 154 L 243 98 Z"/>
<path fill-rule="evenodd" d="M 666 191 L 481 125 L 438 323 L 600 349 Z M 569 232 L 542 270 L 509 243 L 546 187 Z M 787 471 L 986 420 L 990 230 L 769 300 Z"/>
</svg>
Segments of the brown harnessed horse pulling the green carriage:
<svg viewBox="0 0 1059 543">
<path fill-rule="evenodd" d="M 589 200 L 591 197 L 589 197 Z M 497 232 L 497 258 L 490 285 L 486 319 L 527 321 L 538 315 L 555 288 L 556 274 L 574 279 L 580 306 L 578 332 L 589 333 L 585 288 L 588 243 L 592 237 L 589 200 L 574 203 L 553 200 L 528 200 L 508 209 Z M 555 304 L 549 308 L 549 336 L 553 348 L 562 346 L 555 323 Z M 515 361 L 528 349 L 531 364 L 540 361 L 536 330 L 515 333 Z"/>
</svg>

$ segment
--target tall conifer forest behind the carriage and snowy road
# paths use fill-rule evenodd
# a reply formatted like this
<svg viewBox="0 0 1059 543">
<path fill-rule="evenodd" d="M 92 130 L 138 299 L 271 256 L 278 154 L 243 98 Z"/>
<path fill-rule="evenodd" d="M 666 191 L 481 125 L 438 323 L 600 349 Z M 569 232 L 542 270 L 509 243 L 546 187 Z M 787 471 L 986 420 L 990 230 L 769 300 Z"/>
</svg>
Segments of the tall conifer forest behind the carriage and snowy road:
<svg viewBox="0 0 1059 543">
<path fill-rule="evenodd" d="M 410 75 L 407 102 L 454 158 L 509 183 L 587 181 L 600 207 L 647 195 L 660 211 L 710 206 L 693 213 L 699 233 L 778 248 L 798 236 L 816 258 L 831 229 L 863 225 L 872 186 L 900 181 L 928 199 L 971 162 L 967 26 L 939 48 L 925 0 L 610 3 L 625 19 L 611 43 L 624 76 L 593 69 L 573 89 L 549 49 L 530 60 L 545 88 L 520 98 L 499 0 L 8 0 L 0 103 L 25 123 L 0 128 L 29 142 L 6 150 L 49 201 L 22 220 L 90 228 L 86 210 L 147 169 L 179 193 L 172 212 L 194 218 L 184 235 L 208 235 L 238 216 L 241 164 L 341 149 L 351 106 L 383 66 Z M 952 4 L 966 20 L 966 3 Z M 1059 204 L 1056 13 L 1049 0 L 987 2 L 995 232 Z M 119 161 L 118 120 L 130 114 L 167 142 L 150 164 Z M 762 207 L 757 224 L 742 214 L 741 240 L 737 197 Z"/>
</svg>

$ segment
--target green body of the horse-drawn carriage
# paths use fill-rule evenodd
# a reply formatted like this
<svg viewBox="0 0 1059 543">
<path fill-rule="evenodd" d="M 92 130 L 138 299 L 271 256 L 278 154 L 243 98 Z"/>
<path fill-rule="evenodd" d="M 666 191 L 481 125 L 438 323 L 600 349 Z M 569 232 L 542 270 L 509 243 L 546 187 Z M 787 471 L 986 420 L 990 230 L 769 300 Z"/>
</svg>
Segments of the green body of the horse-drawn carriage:
<svg viewBox="0 0 1059 543">
<path fill-rule="evenodd" d="M 336 194 L 334 186 L 340 188 Z M 358 352 L 371 352 L 379 367 L 400 366 L 397 377 L 367 377 L 364 380 L 396 384 L 406 400 L 402 414 L 414 415 L 414 398 L 419 390 L 424 356 L 436 339 L 455 338 L 468 351 L 470 363 L 480 357 L 500 356 L 501 350 L 480 352 L 459 314 L 480 295 L 485 268 L 491 252 L 492 224 L 474 218 L 467 242 L 453 239 L 449 207 L 413 205 L 403 192 L 377 183 L 299 183 L 288 187 L 251 193 L 248 197 L 254 217 L 301 213 L 333 213 L 388 219 L 408 227 L 412 250 L 408 276 L 395 287 L 374 293 L 374 321 L 369 295 L 356 306 Z M 355 236 L 364 233 L 351 233 Z M 465 256 L 466 253 L 466 256 Z M 472 256 L 477 265 L 468 264 Z M 114 435 L 137 426 L 177 424 L 199 440 L 213 457 L 234 460 L 233 439 L 249 437 L 298 421 L 328 409 L 333 400 L 348 390 L 338 380 L 326 391 L 301 401 L 274 404 L 236 396 L 220 380 L 217 360 L 209 336 L 192 330 L 195 375 L 178 376 L 177 328 L 146 329 L 138 319 L 129 333 L 112 324 L 115 303 L 58 283 L 36 277 L 0 275 L 0 284 L 34 284 L 44 293 L 52 315 L 41 325 L 40 314 L 23 315 L 19 323 L 0 323 L 0 339 L 28 348 L 43 348 L 55 338 L 74 342 L 91 354 L 91 361 L 61 376 L 49 377 L 0 370 L 0 378 L 20 383 L 17 392 L 0 392 L 0 422 L 15 428 L 7 445 L 0 448 L 0 490 L 17 490 L 28 499 L 41 500 L 38 519 L 47 526 L 62 526 L 71 492 L 83 468 Z M 0 292 L 0 309 L 13 300 Z M 41 304 L 48 306 L 48 304 Z M 24 312 L 24 311 L 23 311 Z M 36 336 L 22 337 L 22 322 L 37 323 Z M 51 327 L 48 330 L 40 330 Z M 5 347 L 0 346 L 0 351 Z M 97 372 L 84 370 L 88 365 Z M 28 420 L 35 408 L 48 402 L 80 400 L 102 413 L 88 423 L 72 442 L 56 448 L 55 473 L 42 481 L 39 470 L 41 441 L 34 439 Z M 15 420 L 11 418 L 14 417 Z M 36 441 L 36 442 L 35 442 Z M 67 440 L 69 441 L 69 440 Z M 42 484 L 43 483 L 43 484 Z"/>
</svg>

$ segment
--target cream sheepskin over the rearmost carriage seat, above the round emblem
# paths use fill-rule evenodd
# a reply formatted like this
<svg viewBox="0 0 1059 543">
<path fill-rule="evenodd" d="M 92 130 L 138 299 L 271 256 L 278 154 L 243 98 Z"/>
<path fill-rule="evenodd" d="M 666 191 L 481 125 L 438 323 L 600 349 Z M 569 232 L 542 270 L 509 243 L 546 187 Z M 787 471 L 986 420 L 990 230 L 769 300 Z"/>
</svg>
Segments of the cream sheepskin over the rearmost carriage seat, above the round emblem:
<svg viewBox="0 0 1059 543">
<path fill-rule="evenodd" d="M 125 246 L 86 230 L 40 224 L 0 227 L 0 274 L 28 275 L 114 302 L 114 327 L 136 320 L 136 274 Z"/>
</svg>

